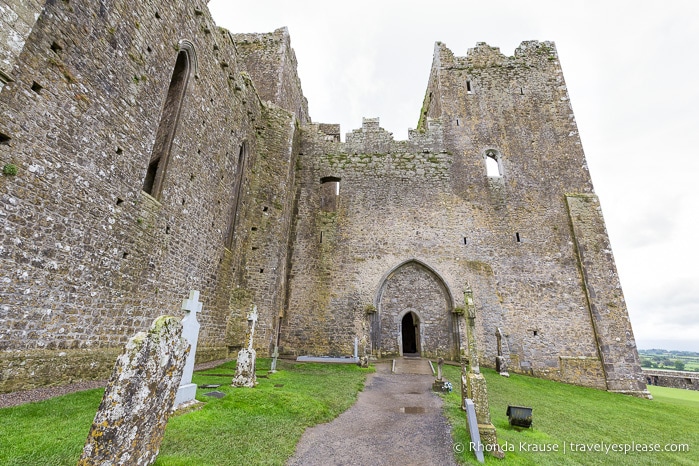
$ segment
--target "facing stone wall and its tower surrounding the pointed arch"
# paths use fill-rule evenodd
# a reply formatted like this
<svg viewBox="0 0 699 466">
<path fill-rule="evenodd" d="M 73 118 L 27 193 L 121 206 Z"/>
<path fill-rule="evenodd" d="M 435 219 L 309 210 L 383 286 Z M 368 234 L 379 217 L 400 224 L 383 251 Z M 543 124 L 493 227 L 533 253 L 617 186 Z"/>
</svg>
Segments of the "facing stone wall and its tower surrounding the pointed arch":
<svg viewBox="0 0 699 466">
<path fill-rule="evenodd" d="M 596 198 L 552 43 L 524 42 L 514 57 L 485 44 L 455 57 L 438 43 L 409 141 L 394 141 L 378 119 L 365 119 L 344 144 L 334 133 L 328 125 L 305 133 L 287 351 L 347 354 L 357 336 L 374 354 L 400 353 L 385 329 L 397 331 L 419 299 L 403 286 L 391 298 L 403 302 L 398 310 L 381 293 L 390 273 L 415 262 L 451 299 L 443 334 L 431 337 L 439 342 L 426 337 L 423 354 L 463 351 L 463 323 L 451 311 L 469 284 L 484 365 L 494 365 L 499 327 L 516 372 L 643 390 L 601 213 L 579 224 L 569 215 L 571 195 Z M 339 180 L 331 211 L 327 180 Z M 595 245 L 589 258 L 580 259 L 574 230 Z M 581 261 L 613 280 L 590 283 Z"/>
</svg>

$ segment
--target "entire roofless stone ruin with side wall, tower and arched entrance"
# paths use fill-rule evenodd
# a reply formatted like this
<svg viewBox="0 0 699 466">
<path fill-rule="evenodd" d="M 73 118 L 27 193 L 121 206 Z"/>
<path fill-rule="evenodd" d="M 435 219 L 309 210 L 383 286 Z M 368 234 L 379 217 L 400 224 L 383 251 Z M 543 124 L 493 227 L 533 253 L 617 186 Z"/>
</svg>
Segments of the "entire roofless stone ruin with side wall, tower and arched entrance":
<svg viewBox="0 0 699 466">
<path fill-rule="evenodd" d="M 554 44 L 437 43 L 417 128 L 315 123 L 286 29 L 203 0 L 0 2 L 0 391 L 105 378 L 189 290 L 198 361 L 466 351 L 643 394 Z M 16 168 L 16 174 L 14 169 Z"/>
</svg>

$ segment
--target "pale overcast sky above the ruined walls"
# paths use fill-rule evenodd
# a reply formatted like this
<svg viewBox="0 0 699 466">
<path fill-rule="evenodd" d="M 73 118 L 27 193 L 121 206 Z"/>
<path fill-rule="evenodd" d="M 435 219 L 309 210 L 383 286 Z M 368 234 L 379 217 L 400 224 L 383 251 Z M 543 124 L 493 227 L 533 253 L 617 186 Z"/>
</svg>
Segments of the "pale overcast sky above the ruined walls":
<svg viewBox="0 0 699 466">
<path fill-rule="evenodd" d="M 415 128 L 436 41 L 556 43 L 641 349 L 699 351 L 699 1 L 209 3 L 231 32 L 289 28 L 313 121 Z"/>
</svg>

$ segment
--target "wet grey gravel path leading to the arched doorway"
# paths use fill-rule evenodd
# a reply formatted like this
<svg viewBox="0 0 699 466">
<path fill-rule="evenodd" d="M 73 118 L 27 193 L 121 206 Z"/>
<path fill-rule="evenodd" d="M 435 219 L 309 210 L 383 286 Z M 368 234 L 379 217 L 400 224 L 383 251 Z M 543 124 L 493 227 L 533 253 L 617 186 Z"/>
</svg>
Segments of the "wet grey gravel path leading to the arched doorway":
<svg viewBox="0 0 699 466">
<path fill-rule="evenodd" d="M 427 360 L 378 364 L 357 402 L 307 429 L 289 465 L 455 465 L 442 399 Z"/>
</svg>

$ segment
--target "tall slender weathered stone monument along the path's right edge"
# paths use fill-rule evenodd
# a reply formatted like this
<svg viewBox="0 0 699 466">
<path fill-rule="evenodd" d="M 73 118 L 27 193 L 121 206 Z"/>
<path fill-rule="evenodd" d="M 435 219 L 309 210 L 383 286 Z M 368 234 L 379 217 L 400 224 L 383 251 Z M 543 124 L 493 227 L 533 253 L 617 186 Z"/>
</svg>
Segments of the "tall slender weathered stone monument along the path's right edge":
<svg viewBox="0 0 699 466">
<path fill-rule="evenodd" d="M 478 432 L 481 441 L 487 445 L 486 450 L 497 458 L 503 458 L 505 453 L 498 445 L 497 432 L 495 426 L 490 421 L 490 407 L 488 406 L 488 389 L 485 377 L 481 374 L 478 365 L 478 347 L 476 345 L 476 306 L 473 303 L 473 292 L 467 285 L 464 290 L 464 304 L 466 306 L 466 337 L 468 339 L 468 373 L 461 377 L 462 397 L 473 400 L 476 408 L 476 419 L 478 420 Z M 466 383 L 466 393 L 464 394 L 463 384 Z M 465 408 L 465 400 L 462 407 Z"/>
</svg>

